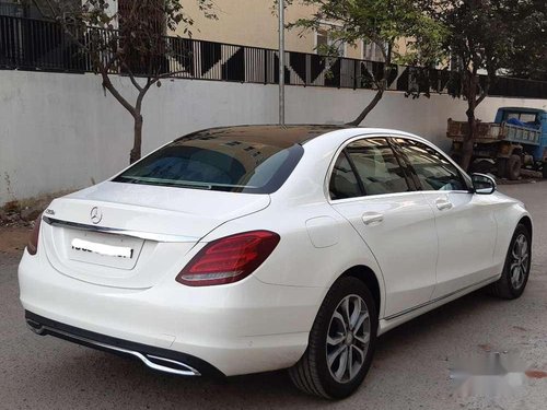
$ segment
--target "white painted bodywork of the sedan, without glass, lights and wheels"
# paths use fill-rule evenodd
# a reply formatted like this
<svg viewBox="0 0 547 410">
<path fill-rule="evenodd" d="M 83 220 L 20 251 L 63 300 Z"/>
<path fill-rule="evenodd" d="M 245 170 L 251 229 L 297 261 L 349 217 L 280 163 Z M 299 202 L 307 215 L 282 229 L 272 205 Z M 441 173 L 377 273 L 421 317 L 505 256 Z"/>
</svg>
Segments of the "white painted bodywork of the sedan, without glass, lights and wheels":
<svg viewBox="0 0 547 410">
<path fill-rule="evenodd" d="M 51 320 L 184 352 L 238 375 L 293 365 L 328 289 L 352 268 L 377 280 L 379 333 L 497 280 L 517 222 L 529 218 L 514 199 L 414 191 L 330 201 L 340 147 L 377 136 L 431 145 L 399 131 L 340 129 L 306 142 L 270 195 L 106 181 L 55 200 L 45 216 L 92 225 L 90 210 L 98 207 L 97 226 L 114 231 L 43 222 L 37 254 L 25 251 L 19 268 L 21 302 Z M 452 209 L 437 208 L 441 196 Z M 365 225 L 372 212 L 383 221 Z M 249 277 L 203 288 L 175 281 L 206 244 L 254 230 L 281 242 Z M 106 245 L 130 248 L 136 260 L 70 250 L 74 238 L 101 243 L 108 235 L 118 238 Z"/>
</svg>

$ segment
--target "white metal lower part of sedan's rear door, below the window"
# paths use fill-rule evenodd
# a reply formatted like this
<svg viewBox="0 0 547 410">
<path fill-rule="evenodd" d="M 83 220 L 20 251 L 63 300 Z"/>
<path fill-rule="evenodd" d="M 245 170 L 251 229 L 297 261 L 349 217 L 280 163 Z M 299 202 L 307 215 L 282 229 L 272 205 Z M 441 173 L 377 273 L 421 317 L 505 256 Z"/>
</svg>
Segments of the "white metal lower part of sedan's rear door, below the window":
<svg viewBox="0 0 547 410">
<path fill-rule="evenodd" d="M 433 212 L 421 192 L 339 200 L 333 207 L 373 249 L 387 290 L 385 316 L 431 298 L 438 239 Z M 374 215 L 383 220 L 364 223 Z"/>
</svg>

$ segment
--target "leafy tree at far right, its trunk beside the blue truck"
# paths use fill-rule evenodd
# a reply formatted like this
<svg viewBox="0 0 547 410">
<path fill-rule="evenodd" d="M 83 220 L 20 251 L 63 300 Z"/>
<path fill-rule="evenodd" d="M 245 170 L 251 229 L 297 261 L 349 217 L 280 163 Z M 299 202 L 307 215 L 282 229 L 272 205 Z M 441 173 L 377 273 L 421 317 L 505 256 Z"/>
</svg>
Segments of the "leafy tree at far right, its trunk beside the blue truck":
<svg viewBox="0 0 547 410">
<path fill-rule="evenodd" d="M 454 97 L 467 101 L 468 132 L 463 141 L 461 159 L 461 165 L 467 168 L 473 160 L 474 140 L 477 136 L 475 110 L 488 96 L 498 75 L 520 65 L 517 56 L 522 55 L 523 44 L 529 42 L 529 36 L 542 33 L 545 14 L 543 17 L 537 16 L 535 9 L 543 7 L 545 10 L 545 0 L 420 2 L 427 14 L 440 22 L 447 32 L 442 48 L 452 60 L 449 92 Z M 543 38 L 545 43 L 545 36 Z M 540 52 L 537 56 L 540 59 Z M 545 55 L 543 60 L 545 63 Z M 480 77 L 484 72 L 487 75 Z"/>
</svg>

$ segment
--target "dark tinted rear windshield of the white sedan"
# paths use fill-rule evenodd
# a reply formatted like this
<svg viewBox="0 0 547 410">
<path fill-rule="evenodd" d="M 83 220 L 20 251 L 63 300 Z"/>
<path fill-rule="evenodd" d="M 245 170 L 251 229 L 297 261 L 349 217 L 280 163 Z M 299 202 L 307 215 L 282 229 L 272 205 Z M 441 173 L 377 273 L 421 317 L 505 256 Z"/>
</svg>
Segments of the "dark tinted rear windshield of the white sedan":
<svg viewBox="0 0 547 410">
<path fill-rule="evenodd" d="M 300 144 L 263 143 L 248 136 L 195 136 L 179 139 L 150 154 L 116 183 L 146 184 L 232 192 L 278 190 L 302 157 Z"/>
</svg>

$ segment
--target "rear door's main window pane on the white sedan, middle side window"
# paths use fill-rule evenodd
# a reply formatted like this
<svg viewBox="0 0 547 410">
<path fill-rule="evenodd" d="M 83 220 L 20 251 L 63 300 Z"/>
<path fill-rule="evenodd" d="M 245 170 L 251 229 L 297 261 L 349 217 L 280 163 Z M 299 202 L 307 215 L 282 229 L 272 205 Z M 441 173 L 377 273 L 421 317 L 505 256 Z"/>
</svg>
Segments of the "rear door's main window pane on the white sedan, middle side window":
<svg viewBox="0 0 547 410">
<path fill-rule="evenodd" d="M 410 190 L 405 169 L 387 140 L 363 139 L 350 143 L 346 150 L 366 196 Z"/>
</svg>

